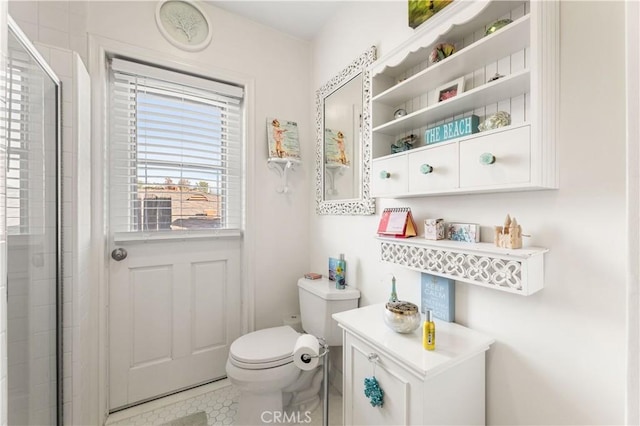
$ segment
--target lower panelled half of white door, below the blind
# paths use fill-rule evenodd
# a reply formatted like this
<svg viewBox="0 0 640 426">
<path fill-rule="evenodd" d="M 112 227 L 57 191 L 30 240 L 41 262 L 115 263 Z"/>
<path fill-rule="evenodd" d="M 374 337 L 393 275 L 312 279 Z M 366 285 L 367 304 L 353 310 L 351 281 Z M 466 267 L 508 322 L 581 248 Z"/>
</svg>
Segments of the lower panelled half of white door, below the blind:
<svg viewBox="0 0 640 426">
<path fill-rule="evenodd" d="M 240 335 L 241 240 L 118 245 L 110 260 L 110 408 L 226 375 Z"/>
</svg>

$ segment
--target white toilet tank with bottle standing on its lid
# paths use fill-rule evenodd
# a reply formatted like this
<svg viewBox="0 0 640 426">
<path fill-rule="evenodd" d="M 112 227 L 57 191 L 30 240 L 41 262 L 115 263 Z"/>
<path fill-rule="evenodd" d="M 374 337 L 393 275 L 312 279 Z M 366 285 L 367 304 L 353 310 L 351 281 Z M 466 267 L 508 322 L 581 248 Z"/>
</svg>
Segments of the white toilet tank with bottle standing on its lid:
<svg viewBox="0 0 640 426">
<path fill-rule="evenodd" d="M 335 281 L 326 277 L 319 280 L 300 278 L 298 296 L 302 329 L 323 337 L 329 346 L 342 346 L 342 333 L 331 315 L 357 308 L 360 291 L 352 286 L 338 290 Z"/>
</svg>

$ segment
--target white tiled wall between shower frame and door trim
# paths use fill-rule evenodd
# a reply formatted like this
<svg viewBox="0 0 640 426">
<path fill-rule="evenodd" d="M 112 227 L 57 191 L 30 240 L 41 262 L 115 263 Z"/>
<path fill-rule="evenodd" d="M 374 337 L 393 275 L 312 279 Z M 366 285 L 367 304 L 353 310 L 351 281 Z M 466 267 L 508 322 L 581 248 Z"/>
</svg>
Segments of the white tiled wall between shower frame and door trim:
<svg viewBox="0 0 640 426">
<path fill-rule="evenodd" d="M 97 324 L 89 315 L 92 308 L 97 312 L 89 279 L 90 223 L 88 215 L 77 213 L 90 209 L 90 87 L 82 64 L 87 58 L 87 3 L 8 4 L 11 17 L 62 81 L 63 415 L 64 424 L 98 424 L 98 367 L 92 363 L 97 333 L 90 332 Z"/>
</svg>

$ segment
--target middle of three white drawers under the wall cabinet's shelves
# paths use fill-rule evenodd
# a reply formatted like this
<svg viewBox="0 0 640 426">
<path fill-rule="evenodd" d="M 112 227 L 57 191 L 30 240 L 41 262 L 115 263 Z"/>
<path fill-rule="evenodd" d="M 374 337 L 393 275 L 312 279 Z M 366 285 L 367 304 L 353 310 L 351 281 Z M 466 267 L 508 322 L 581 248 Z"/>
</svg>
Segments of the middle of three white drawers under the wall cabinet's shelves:
<svg viewBox="0 0 640 426">
<path fill-rule="evenodd" d="M 444 191 L 458 187 L 458 144 L 409 152 L 409 192 Z"/>
</svg>

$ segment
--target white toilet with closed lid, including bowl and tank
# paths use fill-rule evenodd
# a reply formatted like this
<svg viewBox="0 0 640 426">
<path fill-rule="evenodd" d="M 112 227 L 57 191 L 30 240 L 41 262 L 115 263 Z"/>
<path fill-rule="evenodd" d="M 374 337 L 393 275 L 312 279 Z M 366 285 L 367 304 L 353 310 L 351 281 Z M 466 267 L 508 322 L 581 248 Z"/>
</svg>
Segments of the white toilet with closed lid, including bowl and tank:
<svg viewBox="0 0 640 426">
<path fill-rule="evenodd" d="M 305 332 L 341 346 L 335 312 L 358 307 L 360 291 L 336 289 L 326 278 L 298 280 L 300 316 Z M 293 363 L 300 334 L 290 326 L 267 328 L 236 339 L 229 350 L 227 376 L 240 390 L 236 424 L 273 423 L 283 412 L 312 411 L 320 402 L 322 369 L 302 371 Z M 274 414 L 278 413 L 278 414 Z"/>
</svg>

